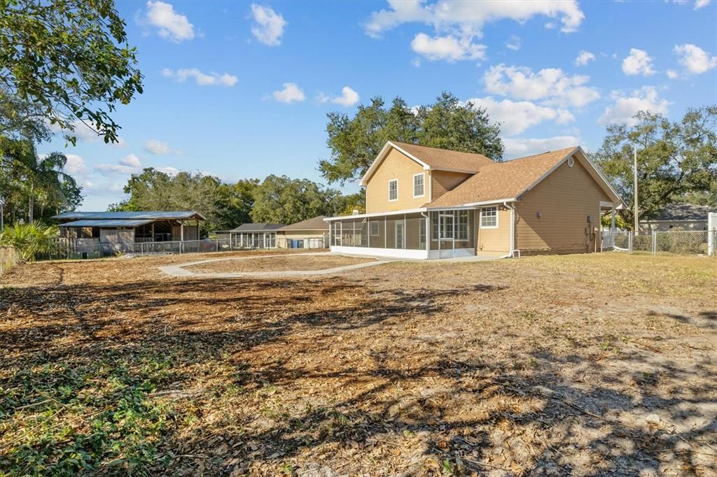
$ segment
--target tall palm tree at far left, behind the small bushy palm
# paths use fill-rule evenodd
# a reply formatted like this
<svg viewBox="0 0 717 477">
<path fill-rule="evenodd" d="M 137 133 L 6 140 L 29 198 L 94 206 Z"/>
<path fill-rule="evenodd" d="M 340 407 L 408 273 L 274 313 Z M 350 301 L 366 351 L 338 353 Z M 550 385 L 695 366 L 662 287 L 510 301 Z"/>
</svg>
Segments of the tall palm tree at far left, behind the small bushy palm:
<svg viewBox="0 0 717 477">
<path fill-rule="evenodd" d="M 75 188 L 77 183 L 71 175 L 62 172 L 67 164 L 67 157 L 62 153 L 49 153 L 37 155 L 37 150 L 29 141 L 24 141 L 23 148 L 16 149 L 12 163 L 19 168 L 27 180 L 29 187 L 28 221 L 33 222 L 35 196 L 47 196 L 54 203 L 67 203 L 64 191 L 67 185 Z M 63 187 L 63 183 L 65 186 Z M 38 193 L 39 191 L 39 193 Z"/>
</svg>

